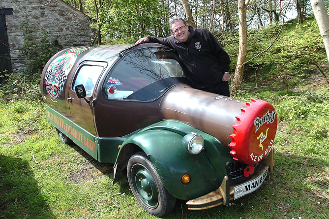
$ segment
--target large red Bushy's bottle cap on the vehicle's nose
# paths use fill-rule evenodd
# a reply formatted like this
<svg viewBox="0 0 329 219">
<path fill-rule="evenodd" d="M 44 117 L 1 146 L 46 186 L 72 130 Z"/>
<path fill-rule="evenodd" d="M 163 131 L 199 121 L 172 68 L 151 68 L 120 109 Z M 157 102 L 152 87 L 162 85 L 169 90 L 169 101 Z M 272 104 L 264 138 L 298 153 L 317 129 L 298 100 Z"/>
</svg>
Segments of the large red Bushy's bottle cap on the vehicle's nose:
<svg viewBox="0 0 329 219">
<path fill-rule="evenodd" d="M 235 160 L 255 165 L 262 161 L 272 148 L 277 129 L 277 115 L 274 107 L 260 99 L 252 99 L 241 108 L 236 116 L 237 123 L 232 125 L 233 133 L 230 152 Z M 249 175 L 250 168 L 244 174 Z"/>
</svg>

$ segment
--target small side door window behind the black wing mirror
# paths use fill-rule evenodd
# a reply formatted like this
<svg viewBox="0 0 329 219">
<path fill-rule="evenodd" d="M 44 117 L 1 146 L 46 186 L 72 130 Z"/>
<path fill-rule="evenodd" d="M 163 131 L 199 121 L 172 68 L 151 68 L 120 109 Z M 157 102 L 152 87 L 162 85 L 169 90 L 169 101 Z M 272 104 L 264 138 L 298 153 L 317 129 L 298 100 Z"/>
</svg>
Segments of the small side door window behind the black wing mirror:
<svg viewBox="0 0 329 219">
<path fill-rule="evenodd" d="M 74 91 L 75 86 L 82 84 L 85 86 L 87 96 L 91 96 L 103 68 L 98 65 L 82 65 L 74 79 L 72 90 Z"/>
</svg>

